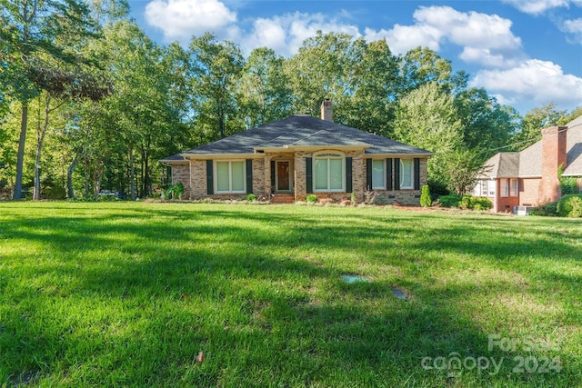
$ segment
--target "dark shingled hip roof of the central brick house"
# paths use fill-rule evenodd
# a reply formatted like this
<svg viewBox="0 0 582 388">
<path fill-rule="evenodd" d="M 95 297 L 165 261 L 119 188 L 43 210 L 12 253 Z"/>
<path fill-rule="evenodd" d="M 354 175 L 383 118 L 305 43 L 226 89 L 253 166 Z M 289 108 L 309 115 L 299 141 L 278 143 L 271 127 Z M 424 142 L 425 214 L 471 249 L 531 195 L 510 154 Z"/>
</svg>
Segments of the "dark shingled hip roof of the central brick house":
<svg viewBox="0 0 582 388">
<path fill-rule="evenodd" d="M 161 160 L 176 162 L 187 156 L 204 154 L 254 154 L 265 150 L 292 151 L 302 147 L 356 147 L 365 154 L 431 155 L 430 151 L 370 134 L 346 125 L 296 114 L 284 120 L 257 126 L 216 142 L 200 145 Z"/>
</svg>

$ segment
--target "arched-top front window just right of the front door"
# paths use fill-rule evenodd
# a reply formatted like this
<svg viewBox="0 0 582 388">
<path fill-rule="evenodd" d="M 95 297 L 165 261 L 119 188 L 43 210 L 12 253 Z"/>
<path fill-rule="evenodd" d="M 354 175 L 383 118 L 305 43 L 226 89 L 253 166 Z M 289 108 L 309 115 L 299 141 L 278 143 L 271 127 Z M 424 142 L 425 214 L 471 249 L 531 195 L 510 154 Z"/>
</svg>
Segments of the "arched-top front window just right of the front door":
<svg viewBox="0 0 582 388">
<path fill-rule="evenodd" d="M 314 156 L 314 182 L 316 192 L 345 191 L 344 156 L 317 154 Z"/>
</svg>

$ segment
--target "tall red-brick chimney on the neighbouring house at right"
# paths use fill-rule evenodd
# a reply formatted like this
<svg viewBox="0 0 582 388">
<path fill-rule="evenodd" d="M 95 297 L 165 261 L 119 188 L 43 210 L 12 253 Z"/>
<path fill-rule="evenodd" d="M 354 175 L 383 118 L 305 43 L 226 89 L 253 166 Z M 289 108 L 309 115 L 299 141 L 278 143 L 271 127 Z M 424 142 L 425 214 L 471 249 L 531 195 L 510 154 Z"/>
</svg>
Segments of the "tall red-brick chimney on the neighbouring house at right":
<svg viewBox="0 0 582 388">
<path fill-rule="evenodd" d="M 538 204 L 557 201 L 560 197 L 557 169 L 566 167 L 567 126 L 550 126 L 542 129 L 542 179 L 539 183 Z"/>
</svg>

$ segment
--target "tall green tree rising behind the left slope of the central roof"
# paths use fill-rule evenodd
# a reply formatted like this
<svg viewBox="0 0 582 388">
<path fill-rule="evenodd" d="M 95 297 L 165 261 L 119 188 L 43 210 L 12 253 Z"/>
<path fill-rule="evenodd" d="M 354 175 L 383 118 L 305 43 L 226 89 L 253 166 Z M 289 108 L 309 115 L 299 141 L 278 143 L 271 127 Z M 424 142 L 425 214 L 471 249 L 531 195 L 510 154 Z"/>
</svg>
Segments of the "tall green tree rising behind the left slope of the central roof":
<svg viewBox="0 0 582 388">
<path fill-rule="evenodd" d="M 245 61 L 238 46 L 216 42 L 214 35 L 206 33 L 192 38 L 189 54 L 200 140 L 212 141 L 242 130 L 236 122 L 236 85 Z"/>
</svg>

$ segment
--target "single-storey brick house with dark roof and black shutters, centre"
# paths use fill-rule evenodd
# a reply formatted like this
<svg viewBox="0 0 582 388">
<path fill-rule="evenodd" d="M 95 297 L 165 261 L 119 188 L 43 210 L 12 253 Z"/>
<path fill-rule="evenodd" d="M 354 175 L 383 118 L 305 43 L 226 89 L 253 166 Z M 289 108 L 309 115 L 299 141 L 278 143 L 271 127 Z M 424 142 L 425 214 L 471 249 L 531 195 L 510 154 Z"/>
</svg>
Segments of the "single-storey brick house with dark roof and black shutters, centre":
<svg viewBox="0 0 582 388">
<path fill-rule="evenodd" d="M 172 184 L 191 199 L 242 199 L 256 194 L 273 202 L 309 194 L 357 202 L 376 192 L 385 203 L 418 204 L 433 153 L 332 122 L 332 103 L 322 118 L 296 114 L 162 159 Z"/>
</svg>

